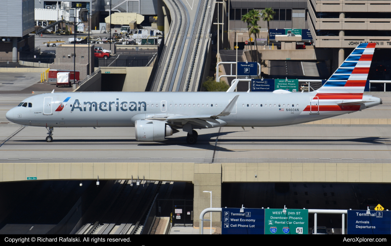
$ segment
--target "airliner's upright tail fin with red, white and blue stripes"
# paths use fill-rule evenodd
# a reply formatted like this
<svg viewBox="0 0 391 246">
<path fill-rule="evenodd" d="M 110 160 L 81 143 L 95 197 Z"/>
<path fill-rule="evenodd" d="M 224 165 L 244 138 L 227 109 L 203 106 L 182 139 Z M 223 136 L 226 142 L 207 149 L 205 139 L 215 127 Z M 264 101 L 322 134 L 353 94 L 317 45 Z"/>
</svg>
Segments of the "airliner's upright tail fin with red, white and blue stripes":
<svg viewBox="0 0 391 246">
<path fill-rule="evenodd" d="M 362 43 L 338 67 L 316 96 L 322 101 L 357 102 L 362 100 L 375 43 Z"/>
</svg>

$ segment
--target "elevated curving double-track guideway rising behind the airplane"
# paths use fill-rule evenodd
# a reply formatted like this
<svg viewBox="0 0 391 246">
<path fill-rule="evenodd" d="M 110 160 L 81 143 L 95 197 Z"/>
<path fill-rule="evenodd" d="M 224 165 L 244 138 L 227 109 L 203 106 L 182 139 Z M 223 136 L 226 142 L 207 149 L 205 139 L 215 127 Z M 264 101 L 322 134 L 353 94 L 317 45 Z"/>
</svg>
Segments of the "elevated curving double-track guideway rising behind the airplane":
<svg viewBox="0 0 391 246">
<path fill-rule="evenodd" d="M 213 0 L 164 0 L 171 15 L 151 91 L 194 92 L 210 46 Z"/>
</svg>

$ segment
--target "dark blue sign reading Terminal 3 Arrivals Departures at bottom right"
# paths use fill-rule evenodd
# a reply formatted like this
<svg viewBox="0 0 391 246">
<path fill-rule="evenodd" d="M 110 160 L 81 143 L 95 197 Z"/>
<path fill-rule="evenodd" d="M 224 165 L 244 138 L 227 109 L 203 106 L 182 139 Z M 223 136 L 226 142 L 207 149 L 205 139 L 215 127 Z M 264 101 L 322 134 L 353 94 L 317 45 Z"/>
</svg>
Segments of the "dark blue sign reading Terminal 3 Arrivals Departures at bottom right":
<svg viewBox="0 0 391 246">
<path fill-rule="evenodd" d="M 391 211 L 348 210 L 348 234 L 391 234 Z"/>
</svg>

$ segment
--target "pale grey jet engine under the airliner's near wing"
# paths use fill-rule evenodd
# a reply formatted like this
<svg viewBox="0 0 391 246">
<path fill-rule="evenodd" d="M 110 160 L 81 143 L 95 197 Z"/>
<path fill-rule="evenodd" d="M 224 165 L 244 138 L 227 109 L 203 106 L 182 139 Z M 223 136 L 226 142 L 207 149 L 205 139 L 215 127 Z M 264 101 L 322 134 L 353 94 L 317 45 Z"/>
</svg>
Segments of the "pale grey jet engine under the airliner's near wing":
<svg viewBox="0 0 391 246">
<path fill-rule="evenodd" d="M 137 141 L 163 141 L 173 129 L 161 121 L 137 120 L 134 122 Z M 174 129 L 174 133 L 178 130 Z"/>
</svg>

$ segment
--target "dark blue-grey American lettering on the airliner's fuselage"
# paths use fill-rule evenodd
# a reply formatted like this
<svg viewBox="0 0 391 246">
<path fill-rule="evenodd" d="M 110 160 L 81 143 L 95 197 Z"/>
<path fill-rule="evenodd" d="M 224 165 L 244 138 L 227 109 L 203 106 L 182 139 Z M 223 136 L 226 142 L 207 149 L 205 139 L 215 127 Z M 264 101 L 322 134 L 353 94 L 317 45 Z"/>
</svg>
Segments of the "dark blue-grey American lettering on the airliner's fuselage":
<svg viewBox="0 0 391 246">
<path fill-rule="evenodd" d="M 118 98 L 117 98 L 118 100 Z M 83 102 L 83 104 L 80 104 L 79 100 L 76 99 L 73 104 L 71 104 L 72 109 L 71 112 L 74 110 L 80 110 L 81 112 L 85 111 L 147 111 L 147 104 L 145 102 L 121 102 L 119 101 L 113 101 L 113 102 Z"/>
</svg>

